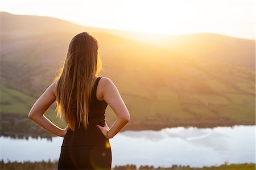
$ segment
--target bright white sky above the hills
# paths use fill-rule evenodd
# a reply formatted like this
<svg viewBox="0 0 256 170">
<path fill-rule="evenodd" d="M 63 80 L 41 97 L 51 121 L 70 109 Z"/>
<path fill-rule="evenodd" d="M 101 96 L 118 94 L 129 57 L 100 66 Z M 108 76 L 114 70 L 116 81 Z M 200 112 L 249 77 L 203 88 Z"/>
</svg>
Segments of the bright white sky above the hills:
<svg viewBox="0 0 256 170">
<path fill-rule="evenodd" d="M 1 0 L 0 11 L 51 16 L 83 26 L 255 40 L 254 0 Z"/>
</svg>

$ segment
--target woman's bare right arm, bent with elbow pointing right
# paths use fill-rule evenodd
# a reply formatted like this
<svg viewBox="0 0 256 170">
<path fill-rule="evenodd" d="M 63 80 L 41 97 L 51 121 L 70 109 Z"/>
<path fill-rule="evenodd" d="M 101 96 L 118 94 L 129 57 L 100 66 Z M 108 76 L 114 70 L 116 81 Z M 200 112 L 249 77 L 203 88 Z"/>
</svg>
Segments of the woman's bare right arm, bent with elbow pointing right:
<svg viewBox="0 0 256 170">
<path fill-rule="evenodd" d="M 109 78 L 104 78 L 104 100 L 110 105 L 117 116 L 112 127 L 109 129 L 108 136 L 113 138 L 119 131 L 121 131 L 130 121 L 130 113 L 122 100 L 121 95 L 115 84 Z M 101 128 L 98 126 L 98 128 Z M 106 133 L 106 132 L 104 132 Z"/>
</svg>

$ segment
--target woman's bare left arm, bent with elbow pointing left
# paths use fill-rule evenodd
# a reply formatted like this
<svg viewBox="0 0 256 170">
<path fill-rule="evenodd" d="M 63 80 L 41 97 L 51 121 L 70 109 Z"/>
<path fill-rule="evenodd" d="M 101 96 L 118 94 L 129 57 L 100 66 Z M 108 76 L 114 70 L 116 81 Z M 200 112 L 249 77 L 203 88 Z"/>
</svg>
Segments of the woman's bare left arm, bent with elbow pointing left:
<svg viewBox="0 0 256 170">
<path fill-rule="evenodd" d="M 61 129 L 53 124 L 50 120 L 48 120 L 46 116 L 44 116 L 44 113 L 55 100 L 56 96 L 54 94 L 54 84 L 52 83 L 42 94 L 42 96 L 40 96 L 39 99 L 36 100 L 35 104 L 28 113 L 28 118 L 30 118 L 32 121 L 35 121 L 38 125 L 42 126 L 49 132 L 57 136 L 64 137 L 67 127 L 65 129 Z"/>
</svg>

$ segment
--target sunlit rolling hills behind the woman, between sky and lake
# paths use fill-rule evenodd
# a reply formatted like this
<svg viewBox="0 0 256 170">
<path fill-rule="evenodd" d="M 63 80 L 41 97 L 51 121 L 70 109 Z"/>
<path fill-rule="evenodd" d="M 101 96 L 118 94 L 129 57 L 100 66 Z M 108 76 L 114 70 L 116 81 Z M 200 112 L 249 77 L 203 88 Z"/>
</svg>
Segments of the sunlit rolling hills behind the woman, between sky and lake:
<svg viewBox="0 0 256 170">
<path fill-rule="evenodd" d="M 1 114 L 27 116 L 72 37 L 86 31 L 101 44 L 100 76 L 113 80 L 130 111 L 125 129 L 255 124 L 254 40 L 210 33 L 136 36 L 46 16 L 0 15 Z M 46 116 L 64 127 L 54 109 Z M 115 120 L 109 106 L 106 118 L 110 125 Z"/>
</svg>

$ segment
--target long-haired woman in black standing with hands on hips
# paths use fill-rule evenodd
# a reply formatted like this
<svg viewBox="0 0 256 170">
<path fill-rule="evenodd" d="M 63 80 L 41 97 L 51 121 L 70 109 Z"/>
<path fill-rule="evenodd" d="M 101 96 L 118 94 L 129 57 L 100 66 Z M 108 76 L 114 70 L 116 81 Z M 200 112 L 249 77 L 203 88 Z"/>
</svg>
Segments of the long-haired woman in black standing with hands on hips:
<svg viewBox="0 0 256 170">
<path fill-rule="evenodd" d="M 58 169 L 111 169 L 113 138 L 130 121 L 130 113 L 112 80 L 97 76 L 102 69 L 98 41 L 82 32 L 73 37 L 60 74 L 36 101 L 28 117 L 49 132 L 64 137 Z M 56 100 L 59 128 L 44 113 Z M 117 120 L 105 122 L 110 105 Z M 55 111 L 56 111 L 55 110 Z"/>
</svg>

